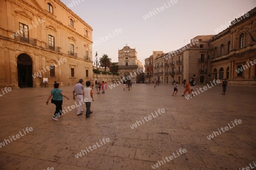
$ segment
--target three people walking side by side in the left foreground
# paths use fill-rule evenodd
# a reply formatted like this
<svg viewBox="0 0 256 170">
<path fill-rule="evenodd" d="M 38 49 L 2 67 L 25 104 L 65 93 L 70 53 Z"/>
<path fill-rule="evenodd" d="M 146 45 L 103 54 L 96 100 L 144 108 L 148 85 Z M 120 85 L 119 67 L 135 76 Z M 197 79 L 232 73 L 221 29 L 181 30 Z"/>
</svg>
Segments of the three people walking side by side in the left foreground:
<svg viewBox="0 0 256 170">
<path fill-rule="evenodd" d="M 94 101 L 94 99 L 93 99 L 93 91 L 91 88 L 92 87 L 91 83 L 87 81 L 85 85 L 86 86 L 84 86 L 84 80 L 79 79 L 79 82 L 73 88 L 73 100 L 76 100 L 77 98 L 77 102 L 79 103 L 77 105 L 78 107 L 77 116 L 82 115 L 82 112 L 84 112 L 82 108 L 82 104 L 85 103 L 86 105 L 85 118 L 88 119 L 90 118 L 90 114 L 93 113 L 90 111 L 90 104 L 92 103 L 92 101 Z M 62 109 L 63 97 L 69 100 L 69 98 L 63 93 L 62 90 L 60 90 L 59 87 L 60 87 L 60 84 L 55 82 L 53 85 L 53 90 L 51 90 L 51 93 L 49 94 L 46 101 L 46 104 L 48 105 L 49 99 L 51 99 L 52 97 L 51 103 L 55 104 L 56 106 L 55 113 L 53 114 L 53 117 L 52 117 L 52 119 L 55 121 L 58 121 L 57 117 L 60 117 L 64 112 Z"/>
</svg>

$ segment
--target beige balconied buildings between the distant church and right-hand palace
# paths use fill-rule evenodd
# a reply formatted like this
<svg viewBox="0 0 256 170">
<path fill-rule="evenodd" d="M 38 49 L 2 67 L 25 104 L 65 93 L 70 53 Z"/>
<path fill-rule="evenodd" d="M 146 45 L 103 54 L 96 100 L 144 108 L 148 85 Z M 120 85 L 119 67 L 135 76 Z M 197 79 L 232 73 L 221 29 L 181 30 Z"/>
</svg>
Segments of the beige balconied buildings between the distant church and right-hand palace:
<svg viewBox="0 0 256 170">
<path fill-rule="evenodd" d="M 173 83 L 174 80 L 181 83 L 184 79 L 189 80 L 193 77 L 197 83 L 209 82 L 212 79 L 209 69 L 211 53 L 209 41 L 212 37 L 213 35 L 196 36 L 191 39 L 190 44 L 180 49 L 169 53 L 155 53 L 155 57 L 152 57 L 154 65 L 152 80 L 168 84 Z M 145 59 L 145 63 L 148 59 Z"/>
</svg>

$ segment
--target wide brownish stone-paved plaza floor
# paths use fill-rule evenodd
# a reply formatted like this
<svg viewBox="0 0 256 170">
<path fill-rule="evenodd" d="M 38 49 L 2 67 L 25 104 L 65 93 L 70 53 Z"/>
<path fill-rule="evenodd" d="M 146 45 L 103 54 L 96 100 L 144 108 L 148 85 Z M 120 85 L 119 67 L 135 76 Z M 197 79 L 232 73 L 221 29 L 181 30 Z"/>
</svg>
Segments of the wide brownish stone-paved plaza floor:
<svg viewBox="0 0 256 170">
<path fill-rule="evenodd" d="M 171 84 L 156 90 L 152 84 L 133 84 L 131 91 L 108 87 L 100 95 L 94 89 L 90 119 L 85 113 L 76 116 L 75 108 L 59 121 L 51 119 L 55 105 L 46 105 L 51 89 L 15 89 L 0 97 L 0 142 L 23 135 L 2 145 L 0 169 L 153 169 L 156 163 L 156 169 L 255 167 L 256 88 L 228 87 L 224 96 L 222 87 L 214 86 L 189 100 L 181 97 L 181 86 L 172 96 Z M 73 88 L 60 89 L 70 98 L 63 108 L 71 107 Z M 165 112 L 156 116 L 158 109 Z M 137 121 L 142 124 L 132 129 Z M 228 124 L 229 130 L 207 138 Z M 109 141 L 102 143 L 104 138 Z M 89 152 L 76 158 L 86 148 Z M 177 156 L 180 148 L 186 152 Z M 170 160 L 171 155 L 176 156 Z"/>
</svg>

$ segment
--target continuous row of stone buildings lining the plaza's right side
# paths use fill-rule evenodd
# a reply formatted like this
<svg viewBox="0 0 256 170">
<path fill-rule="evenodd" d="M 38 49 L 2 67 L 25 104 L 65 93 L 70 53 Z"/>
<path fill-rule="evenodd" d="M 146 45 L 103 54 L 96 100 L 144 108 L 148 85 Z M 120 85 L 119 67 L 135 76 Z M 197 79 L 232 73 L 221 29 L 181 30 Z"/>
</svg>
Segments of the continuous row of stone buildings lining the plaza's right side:
<svg viewBox="0 0 256 170">
<path fill-rule="evenodd" d="M 146 80 L 197 84 L 227 79 L 229 84 L 256 86 L 256 8 L 232 21 L 218 35 L 196 36 L 170 53 L 153 52 L 145 59 Z"/>
</svg>

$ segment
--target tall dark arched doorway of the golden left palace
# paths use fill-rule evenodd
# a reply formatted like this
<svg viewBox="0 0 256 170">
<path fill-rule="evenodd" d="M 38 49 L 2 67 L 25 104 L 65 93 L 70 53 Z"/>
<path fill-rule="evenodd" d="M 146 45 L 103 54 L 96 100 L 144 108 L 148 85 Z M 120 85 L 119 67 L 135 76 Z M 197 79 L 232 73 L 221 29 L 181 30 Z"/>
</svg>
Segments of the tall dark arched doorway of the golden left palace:
<svg viewBox="0 0 256 170">
<path fill-rule="evenodd" d="M 17 57 L 18 84 L 20 88 L 33 87 L 32 60 L 27 54 Z"/>
</svg>

